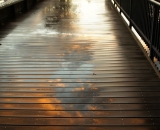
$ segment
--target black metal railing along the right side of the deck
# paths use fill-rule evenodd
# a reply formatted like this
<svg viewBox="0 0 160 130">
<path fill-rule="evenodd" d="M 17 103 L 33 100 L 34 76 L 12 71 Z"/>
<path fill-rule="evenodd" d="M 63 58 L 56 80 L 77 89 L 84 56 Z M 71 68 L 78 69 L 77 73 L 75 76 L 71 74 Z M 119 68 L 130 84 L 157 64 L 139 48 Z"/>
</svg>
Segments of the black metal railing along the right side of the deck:
<svg viewBox="0 0 160 130">
<path fill-rule="evenodd" d="M 160 72 L 160 3 L 154 0 L 111 2 Z"/>
</svg>

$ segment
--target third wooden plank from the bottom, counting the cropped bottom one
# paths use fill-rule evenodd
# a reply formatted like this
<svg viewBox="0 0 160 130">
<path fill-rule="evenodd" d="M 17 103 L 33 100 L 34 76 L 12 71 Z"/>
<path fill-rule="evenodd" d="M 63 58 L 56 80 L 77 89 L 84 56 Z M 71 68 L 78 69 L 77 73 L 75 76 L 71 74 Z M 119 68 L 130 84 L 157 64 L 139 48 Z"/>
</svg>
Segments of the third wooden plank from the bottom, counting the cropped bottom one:
<svg viewBox="0 0 160 130">
<path fill-rule="evenodd" d="M 136 110 L 136 111 L 40 111 L 40 110 L 0 110 L 1 117 L 32 117 L 32 118 L 128 118 L 128 117 L 139 117 L 139 118 L 150 118 L 152 113 L 153 118 L 159 118 L 160 112 L 154 112 L 154 110 Z"/>
</svg>

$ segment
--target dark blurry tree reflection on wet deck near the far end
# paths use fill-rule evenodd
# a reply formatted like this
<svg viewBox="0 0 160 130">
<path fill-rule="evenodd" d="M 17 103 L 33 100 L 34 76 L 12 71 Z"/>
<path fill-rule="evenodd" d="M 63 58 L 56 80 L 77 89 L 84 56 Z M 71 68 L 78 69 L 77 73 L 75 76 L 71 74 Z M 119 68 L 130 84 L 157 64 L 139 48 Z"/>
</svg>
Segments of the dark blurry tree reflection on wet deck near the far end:
<svg viewBox="0 0 160 130">
<path fill-rule="evenodd" d="M 55 30 L 59 34 L 74 33 L 77 30 L 77 6 L 71 0 L 53 1 L 46 7 L 46 27 L 49 30 Z"/>
</svg>

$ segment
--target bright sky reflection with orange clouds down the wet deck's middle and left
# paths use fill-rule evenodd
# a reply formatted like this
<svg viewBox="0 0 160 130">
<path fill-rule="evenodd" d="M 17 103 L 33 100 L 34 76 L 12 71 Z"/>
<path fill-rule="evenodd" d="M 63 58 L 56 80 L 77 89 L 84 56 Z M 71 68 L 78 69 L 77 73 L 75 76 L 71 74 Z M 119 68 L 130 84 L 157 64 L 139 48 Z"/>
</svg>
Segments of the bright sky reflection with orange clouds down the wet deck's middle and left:
<svg viewBox="0 0 160 130">
<path fill-rule="evenodd" d="M 109 20 L 109 17 L 107 17 L 108 10 L 106 9 L 104 3 L 105 0 L 72 0 L 73 7 L 71 7 L 70 12 L 68 12 L 70 14 L 67 15 L 66 18 L 61 14 L 61 22 L 56 23 L 51 27 L 46 27 L 45 18 L 47 17 L 47 15 L 54 15 L 54 9 L 52 10 L 53 12 L 47 10 L 47 8 L 54 7 L 54 4 L 56 4 L 56 2 L 53 1 L 53 3 L 50 4 L 50 7 L 47 7 L 47 5 L 42 12 L 35 12 L 35 15 L 31 15 L 31 17 L 24 20 L 24 24 L 15 27 L 15 29 L 12 30 L 12 33 L 8 34 L 1 40 L 2 43 L 7 41 L 3 47 L 6 48 L 6 50 L 9 50 L 9 53 L 13 53 L 17 56 L 14 60 L 18 62 L 18 64 L 13 65 L 13 68 L 8 68 L 11 73 L 15 74 L 13 76 L 13 79 L 0 79 L 0 81 L 12 83 L 14 82 L 15 84 L 18 83 L 15 86 L 17 87 L 17 89 L 19 89 L 19 91 L 23 91 L 22 93 L 16 92 L 1 94 L 2 97 L 22 97 L 21 100 L 12 100 L 12 98 L 8 98 L 8 100 L 6 100 L 6 102 L 19 102 L 20 104 L 5 104 L 1 105 L 1 107 L 9 109 L 33 109 L 32 112 L 28 113 L 27 111 L 24 113 L 22 111 L 13 110 L 12 112 L 7 112 L 8 115 L 21 116 L 21 114 L 23 113 L 23 115 L 25 116 L 29 114 L 33 117 L 114 117 L 115 115 L 112 115 L 113 113 L 109 110 L 121 110 L 122 108 L 126 108 L 128 110 L 143 109 L 143 106 L 141 105 L 117 105 L 115 103 L 115 99 L 112 98 L 113 95 L 122 97 L 132 97 L 132 95 L 127 95 L 127 93 L 125 93 L 126 95 L 122 95 L 118 92 L 115 92 L 111 93 L 113 95 L 109 96 L 109 93 L 103 93 L 104 88 L 106 90 L 106 86 L 104 85 L 101 87 L 101 85 L 97 84 L 97 82 L 102 81 L 116 82 L 120 80 L 120 78 L 117 79 L 114 77 L 114 75 L 112 77 L 109 74 L 107 75 L 108 77 L 104 79 L 101 79 L 101 77 L 96 79 L 93 78 L 94 70 L 97 68 L 103 69 L 104 67 L 106 67 L 103 65 L 107 65 L 108 60 L 111 60 L 111 57 L 109 57 L 108 59 L 106 57 L 107 60 L 103 61 L 103 58 L 99 57 L 99 54 L 110 52 L 110 55 L 112 55 L 113 53 L 114 56 L 118 56 L 121 58 L 121 60 L 118 61 L 118 64 L 123 63 L 123 59 L 126 59 L 126 55 L 123 56 L 120 53 L 116 54 L 112 52 L 112 50 L 121 51 L 124 50 L 124 48 L 122 49 L 119 46 L 119 43 L 117 43 L 117 37 L 114 34 L 110 33 L 113 25 L 106 24 L 106 21 Z M 11 24 L 17 25 L 16 22 L 13 22 Z M 25 27 L 26 25 L 28 26 L 28 28 Z M 24 29 L 22 30 L 23 27 Z M 18 37 L 17 39 L 14 38 L 15 41 L 12 39 L 12 37 L 14 36 Z M 106 41 L 111 42 L 106 45 L 104 44 L 106 43 Z M 13 42 L 14 44 L 11 42 Z M 47 45 L 45 45 L 45 43 Z M 18 51 L 15 52 L 15 50 Z M 41 56 L 44 59 L 41 58 Z M 35 63 L 24 64 L 25 60 L 26 62 L 27 60 L 29 60 L 32 62 L 34 61 Z M 50 71 L 52 71 L 53 73 L 49 75 L 44 75 L 42 73 L 40 77 L 39 75 L 30 75 L 36 73 L 35 70 L 27 70 L 30 72 L 30 74 L 28 74 L 28 77 L 25 77 L 23 79 L 23 75 L 21 78 L 16 75 L 16 73 L 19 73 L 18 71 L 14 70 L 17 66 L 22 68 L 35 68 L 35 70 L 39 69 L 38 71 L 40 71 L 40 68 L 42 67 L 43 69 L 51 69 Z M 125 68 L 127 69 L 127 66 Z M 128 66 L 128 69 L 130 69 L 130 66 Z M 75 71 L 78 71 L 79 75 L 75 75 Z M 66 72 L 68 74 L 65 75 Z M 98 77 L 99 75 L 94 76 Z M 109 78 L 110 80 L 108 80 Z M 28 88 L 28 91 L 30 90 L 30 92 L 26 93 L 27 90 L 23 90 L 23 88 L 26 85 L 25 83 L 29 82 L 32 82 L 33 84 L 31 84 Z M 46 88 L 49 88 L 49 90 L 46 90 Z M 134 88 L 129 89 L 134 90 Z M 135 94 L 133 96 L 135 96 Z M 136 96 L 138 96 L 138 94 Z M 25 99 L 25 97 L 29 98 Z M 99 99 L 95 99 L 94 97 L 105 97 L 105 104 L 98 105 Z M 23 102 L 32 102 L 33 104 L 23 104 Z M 138 102 L 138 100 L 134 100 L 133 102 Z M 82 111 L 80 112 L 78 110 Z M 88 110 L 93 111 L 85 112 Z M 95 110 L 102 110 L 102 112 L 94 112 Z M 108 110 L 108 112 L 105 113 L 103 112 L 103 110 Z M 118 112 L 117 114 L 120 113 Z M 114 124 L 113 121 L 110 122 L 111 120 L 107 120 L 107 118 L 86 120 L 88 121 L 87 123 L 89 125 Z M 79 122 L 84 124 L 86 123 L 86 120 L 73 120 L 70 118 L 67 119 L 67 121 L 66 119 L 43 119 L 39 122 L 36 119 L 24 119 L 23 121 L 17 119 L 16 121 L 21 124 L 23 124 L 24 122 L 30 122 L 32 124 L 33 122 L 38 125 L 50 125 L 53 123 L 57 125 L 74 125 L 78 124 Z M 143 125 L 145 123 L 145 119 L 124 120 L 126 123 L 128 122 L 128 124 L 130 123 L 133 125 Z M 122 124 L 121 119 L 116 119 L 116 122 Z"/>
</svg>

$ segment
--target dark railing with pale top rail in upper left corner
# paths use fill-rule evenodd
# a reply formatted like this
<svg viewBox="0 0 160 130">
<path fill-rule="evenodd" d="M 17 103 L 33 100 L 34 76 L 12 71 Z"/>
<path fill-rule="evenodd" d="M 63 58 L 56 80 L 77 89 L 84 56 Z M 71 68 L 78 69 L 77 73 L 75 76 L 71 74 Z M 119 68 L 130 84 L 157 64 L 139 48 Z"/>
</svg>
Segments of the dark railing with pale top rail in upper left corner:
<svg viewBox="0 0 160 130">
<path fill-rule="evenodd" d="M 40 0 L 7 0 L 0 3 L 0 25 L 27 11 Z"/>
</svg>

